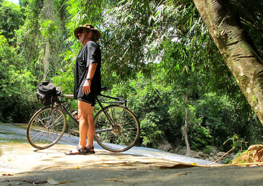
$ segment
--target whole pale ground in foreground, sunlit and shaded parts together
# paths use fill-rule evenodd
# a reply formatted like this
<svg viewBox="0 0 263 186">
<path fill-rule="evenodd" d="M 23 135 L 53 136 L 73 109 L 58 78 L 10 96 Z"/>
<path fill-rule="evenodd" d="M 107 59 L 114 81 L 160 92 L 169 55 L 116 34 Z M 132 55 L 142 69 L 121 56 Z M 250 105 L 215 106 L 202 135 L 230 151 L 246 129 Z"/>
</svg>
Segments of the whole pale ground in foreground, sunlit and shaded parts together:
<svg viewBox="0 0 263 186">
<path fill-rule="evenodd" d="M 0 144 L 0 185 L 263 185 L 263 166 L 198 167 L 98 149 L 66 156 L 72 148 Z"/>
</svg>

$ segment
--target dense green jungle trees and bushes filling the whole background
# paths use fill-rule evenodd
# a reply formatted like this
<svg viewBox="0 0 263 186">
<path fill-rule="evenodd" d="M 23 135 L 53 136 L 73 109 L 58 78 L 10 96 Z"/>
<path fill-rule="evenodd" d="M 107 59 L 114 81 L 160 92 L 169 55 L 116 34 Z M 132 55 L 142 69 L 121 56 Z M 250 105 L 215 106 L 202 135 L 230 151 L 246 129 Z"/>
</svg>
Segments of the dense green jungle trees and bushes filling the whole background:
<svg viewBox="0 0 263 186">
<path fill-rule="evenodd" d="M 213 20 L 204 14 L 211 10 L 199 2 L 20 0 L 14 5 L 0 0 L 0 122 L 27 123 L 42 106 L 35 97 L 41 81 L 72 93 L 74 63 L 82 47 L 73 30 L 89 23 L 102 34 L 102 83 L 109 87 L 107 94 L 127 99 L 138 115 L 141 146 L 155 148 L 162 138 L 185 145 L 185 131 L 194 150 L 229 150 L 233 144 L 223 143 L 233 135 L 249 145 L 263 143 L 257 112 L 263 108 L 256 105 L 260 95 L 244 91 L 250 81 L 238 76 L 238 64 L 231 66 L 238 52 L 231 60 L 224 55 L 229 44 L 210 34 Z M 260 61 L 262 0 L 220 2 L 238 16 Z M 260 89 L 260 81 L 253 86 Z"/>
</svg>

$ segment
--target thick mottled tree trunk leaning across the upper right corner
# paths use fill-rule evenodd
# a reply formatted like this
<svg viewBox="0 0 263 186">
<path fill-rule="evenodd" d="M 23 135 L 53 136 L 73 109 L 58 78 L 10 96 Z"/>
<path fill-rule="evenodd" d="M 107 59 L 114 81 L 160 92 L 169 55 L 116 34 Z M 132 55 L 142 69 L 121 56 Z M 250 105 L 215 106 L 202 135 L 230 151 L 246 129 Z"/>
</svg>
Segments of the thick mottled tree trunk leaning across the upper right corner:
<svg viewBox="0 0 263 186">
<path fill-rule="evenodd" d="M 263 61 L 227 0 L 194 0 L 220 53 L 263 124 Z"/>
</svg>

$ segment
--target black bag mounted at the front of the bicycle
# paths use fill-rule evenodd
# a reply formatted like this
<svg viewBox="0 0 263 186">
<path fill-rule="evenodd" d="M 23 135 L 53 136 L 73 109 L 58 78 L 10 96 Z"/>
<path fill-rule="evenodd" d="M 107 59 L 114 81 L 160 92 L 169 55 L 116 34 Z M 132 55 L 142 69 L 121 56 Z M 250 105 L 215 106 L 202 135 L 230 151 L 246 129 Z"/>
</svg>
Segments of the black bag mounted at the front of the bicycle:
<svg viewBox="0 0 263 186">
<path fill-rule="evenodd" d="M 57 101 L 58 93 L 55 85 L 50 82 L 44 81 L 37 85 L 39 91 L 36 92 L 37 100 L 44 106 L 49 106 Z"/>
</svg>

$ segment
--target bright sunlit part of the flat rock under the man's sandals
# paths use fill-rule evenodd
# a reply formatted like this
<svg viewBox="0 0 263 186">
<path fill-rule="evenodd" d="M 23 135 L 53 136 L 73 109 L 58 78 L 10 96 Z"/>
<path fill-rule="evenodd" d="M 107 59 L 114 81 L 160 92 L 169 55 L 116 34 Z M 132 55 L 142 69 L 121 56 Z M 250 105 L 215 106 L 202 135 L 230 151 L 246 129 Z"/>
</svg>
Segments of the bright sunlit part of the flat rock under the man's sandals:
<svg viewBox="0 0 263 186">
<path fill-rule="evenodd" d="M 50 168 L 107 168 L 111 169 L 151 169 L 170 168 L 179 162 L 125 153 L 112 153 L 95 149 L 96 154 L 66 155 L 75 146 L 55 145 L 48 149 L 37 150 L 29 144 L 4 144 L 0 160 L 1 174 L 16 174 Z M 180 164 L 183 166 L 182 164 Z M 185 166 L 191 166 L 185 164 Z M 192 166 L 191 166 L 192 167 Z"/>
</svg>

